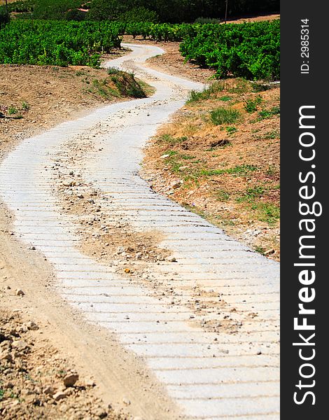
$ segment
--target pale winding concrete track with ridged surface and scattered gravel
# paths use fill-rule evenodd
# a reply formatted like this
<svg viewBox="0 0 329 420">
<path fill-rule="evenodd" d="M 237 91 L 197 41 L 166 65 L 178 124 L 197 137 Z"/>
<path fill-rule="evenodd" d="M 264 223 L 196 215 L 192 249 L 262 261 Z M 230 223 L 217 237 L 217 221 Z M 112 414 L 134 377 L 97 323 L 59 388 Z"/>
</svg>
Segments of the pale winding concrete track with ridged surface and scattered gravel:
<svg viewBox="0 0 329 420">
<path fill-rule="evenodd" d="M 156 88 L 153 97 L 58 125 L 3 161 L 0 194 L 15 214 L 15 235 L 52 262 L 66 300 L 143 358 L 184 418 L 279 419 L 279 265 L 140 179 L 146 140 L 202 85 L 144 66 L 160 48 L 129 46 L 130 55 L 107 65 L 133 70 Z M 92 147 L 74 156 L 70 145 L 83 139 Z M 115 258 L 102 265 L 83 254 L 73 216 L 57 201 L 56 162 L 100 192 L 100 214 L 160 232 L 176 262 L 151 264 L 131 281 Z"/>
</svg>

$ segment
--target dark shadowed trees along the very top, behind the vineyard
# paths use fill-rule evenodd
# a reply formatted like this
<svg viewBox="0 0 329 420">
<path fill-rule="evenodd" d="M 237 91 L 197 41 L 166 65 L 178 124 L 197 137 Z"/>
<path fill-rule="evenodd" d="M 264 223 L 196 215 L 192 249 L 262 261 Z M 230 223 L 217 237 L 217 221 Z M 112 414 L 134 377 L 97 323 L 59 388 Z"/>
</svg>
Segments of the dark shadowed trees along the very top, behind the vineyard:
<svg viewBox="0 0 329 420">
<path fill-rule="evenodd" d="M 8 6 L 10 12 L 29 13 L 34 9 L 34 18 L 54 20 L 118 20 L 134 8 L 149 10 L 159 16 L 160 22 L 170 23 L 216 23 L 225 16 L 224 0 L 18 0 Z M 90 8 L 91 13 L 79 12 L 81 7 Z M 279 0 L 235 0 L 229 1 L 228 16 L 278 10 Z M 154 22 L 153 18 L 143 21 Z"/>
</svg>

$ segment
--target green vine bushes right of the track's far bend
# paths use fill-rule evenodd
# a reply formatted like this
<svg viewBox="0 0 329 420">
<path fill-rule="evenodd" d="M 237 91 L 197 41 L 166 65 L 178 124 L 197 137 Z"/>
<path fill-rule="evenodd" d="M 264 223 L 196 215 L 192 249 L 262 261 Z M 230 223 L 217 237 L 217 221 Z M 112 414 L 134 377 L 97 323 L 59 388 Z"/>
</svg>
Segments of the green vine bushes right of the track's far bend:
<svg viewBox="0 0 329 420">
<path fill-rule="evenodd" d="M 217 70 L 218 77 L 277 79 L 280 72 L 280 22 L 202 25 L 181 44 L 186 59 Z"/>
</svg>

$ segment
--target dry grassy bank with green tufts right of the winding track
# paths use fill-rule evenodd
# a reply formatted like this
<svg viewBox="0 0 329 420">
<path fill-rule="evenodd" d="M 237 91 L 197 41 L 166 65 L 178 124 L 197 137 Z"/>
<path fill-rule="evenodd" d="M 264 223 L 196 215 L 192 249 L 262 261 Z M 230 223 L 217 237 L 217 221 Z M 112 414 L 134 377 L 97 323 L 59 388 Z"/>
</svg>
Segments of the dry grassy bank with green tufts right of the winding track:
<svg viewBox="0 0 329 420">
<path fill-rule="evenodd" d="M 279 88 L 241 79 L 193 92 L 146 150 L 153 188 L 279 260 Z"/>
</svg>

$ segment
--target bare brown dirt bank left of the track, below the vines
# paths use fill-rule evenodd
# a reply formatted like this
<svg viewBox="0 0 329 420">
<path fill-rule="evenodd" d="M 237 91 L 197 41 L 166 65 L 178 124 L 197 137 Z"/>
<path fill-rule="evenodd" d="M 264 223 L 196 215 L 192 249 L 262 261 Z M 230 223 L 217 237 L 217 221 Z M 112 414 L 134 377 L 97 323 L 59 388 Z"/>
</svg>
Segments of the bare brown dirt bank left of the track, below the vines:
<svg viewBox="0 0 329 420">
<path fill-rule="evenodd" d="M 0 64 L 0 158 L 26 137 L 127 97 L 104 69 Z"/>
</svg>

